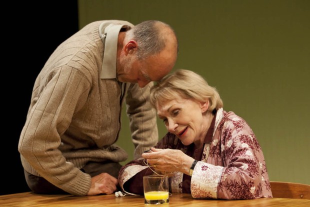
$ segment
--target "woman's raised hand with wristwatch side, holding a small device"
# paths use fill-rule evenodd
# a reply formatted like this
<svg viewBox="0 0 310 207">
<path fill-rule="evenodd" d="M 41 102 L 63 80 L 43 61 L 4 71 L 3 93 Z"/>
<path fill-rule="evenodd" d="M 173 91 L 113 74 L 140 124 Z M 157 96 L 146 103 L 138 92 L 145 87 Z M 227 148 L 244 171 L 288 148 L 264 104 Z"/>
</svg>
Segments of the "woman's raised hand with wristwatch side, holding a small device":
<svg viewBox="0 0 310 207">
<path fill-rule="evenodd" d="M 146 159 L 147 163 L 155 170 L 162 174 L 180 171 L 185 174 L 189 173 L 189 168 L 193 158 L 184 154 L 179 149 L 158 149 L 151 148 L 151 152 L 142 153 L 141 156 Z"/>
</svg>

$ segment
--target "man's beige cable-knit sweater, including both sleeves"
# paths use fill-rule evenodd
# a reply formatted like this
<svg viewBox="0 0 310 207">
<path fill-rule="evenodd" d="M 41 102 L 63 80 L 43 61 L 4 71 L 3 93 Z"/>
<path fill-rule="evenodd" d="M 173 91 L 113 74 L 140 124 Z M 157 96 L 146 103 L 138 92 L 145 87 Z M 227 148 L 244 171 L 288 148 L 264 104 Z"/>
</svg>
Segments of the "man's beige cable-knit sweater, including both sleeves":
<svg viewBox="0 0 310 207">
<path fill-rule="evenodd" d="M 73 195 L 86 195 L 90 188 L 90 175 L 79 170 L 87 161 L 127 158 L 114 144 L 123 100 L 120 83 L 116 78 L 100 78 L 101 22 L 86 25 L 51 54 L 35 80 L 18 143 L 26 171 Z M 110 22 L 133 26 L 126 21 Z M 125 84 L 123 97 L 135 158 L 158 140 L 155 110 L 147 101 L 151 85 Z M 128 135 L 128 143 L 131 137 Z"/>
</svg>

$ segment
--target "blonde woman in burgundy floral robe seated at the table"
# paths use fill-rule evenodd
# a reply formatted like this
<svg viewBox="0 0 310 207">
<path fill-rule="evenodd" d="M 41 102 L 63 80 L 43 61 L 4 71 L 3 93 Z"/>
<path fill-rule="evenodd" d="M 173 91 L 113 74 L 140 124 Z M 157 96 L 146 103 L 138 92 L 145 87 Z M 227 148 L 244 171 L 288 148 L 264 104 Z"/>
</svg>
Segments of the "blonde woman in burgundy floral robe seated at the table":
<svg viewBox="0 0 310 207">
<path fill-rule="evenodd" d="M 272 197 L 261 147 L 244 119 L 223 110 L 214 87 L 179 69 L 151 89 L 150 101 L 168 132 L 118 175 L 122 190 L 143 194 L 144 175 L 169 174 L 171 192 L 194 198 Z"/>
</svg>

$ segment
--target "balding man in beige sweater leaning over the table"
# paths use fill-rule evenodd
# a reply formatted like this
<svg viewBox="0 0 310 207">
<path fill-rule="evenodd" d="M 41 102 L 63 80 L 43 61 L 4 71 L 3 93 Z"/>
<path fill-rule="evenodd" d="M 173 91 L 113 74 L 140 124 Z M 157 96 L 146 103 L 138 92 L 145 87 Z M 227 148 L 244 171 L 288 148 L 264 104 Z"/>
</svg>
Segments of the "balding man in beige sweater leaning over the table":
<svg viewBox="0 0 310 207">
<path fill-rule="evenodd" d="M 152 81 L 174 66 L 178 43 L 164 22 L 95 21 L 62 42 L 38 74 L 18 150 L 35 193 L 110 194 L 123 100 L 134 157 L 158 140 Z"/>
</svg>

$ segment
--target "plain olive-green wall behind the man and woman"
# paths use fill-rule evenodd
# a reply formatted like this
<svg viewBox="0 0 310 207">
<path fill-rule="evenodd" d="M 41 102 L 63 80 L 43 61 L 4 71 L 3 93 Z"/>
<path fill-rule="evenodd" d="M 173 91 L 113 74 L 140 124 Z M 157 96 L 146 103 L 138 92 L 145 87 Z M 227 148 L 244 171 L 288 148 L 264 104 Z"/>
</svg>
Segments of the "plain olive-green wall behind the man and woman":
<svg viewBox="0 0 310 207">
<path fill-rule="evenodd" d="M 270 180 L 310 184 L 309 0 L 78 0 L 78 9 L 79 27 L 101 19 L 170 24 L 179 40 L 174 69 L 200 73 L 224 110 L 249 123 Z M 133 145 L 122 119 L 117 143 L 127 162 Z M 158 129 L 161 138 L 161 121 Z"/>
</svg>

